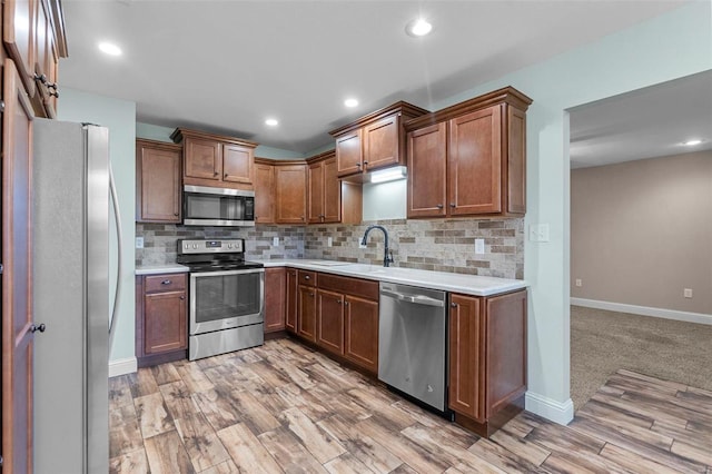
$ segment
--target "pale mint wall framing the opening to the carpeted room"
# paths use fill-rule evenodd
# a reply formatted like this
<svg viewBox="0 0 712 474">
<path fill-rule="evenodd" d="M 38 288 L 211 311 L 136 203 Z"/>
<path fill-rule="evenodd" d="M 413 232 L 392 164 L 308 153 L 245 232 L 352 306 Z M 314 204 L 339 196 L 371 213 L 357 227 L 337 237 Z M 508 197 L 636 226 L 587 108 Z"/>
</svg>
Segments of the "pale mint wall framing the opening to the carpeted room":
<svg viewBox="0 0 712 474">
<path fill-rule="evenodd" d="M 712 3 L 669 13 L 436 103 L 439 109 L 513 86 L 527 111 L 525 225 L 548 224 L 551 241 L 525 241 L 528 307 L 527 409 L 561 423 L 570 398 L 570 164 L 567 109 L 712 69 Z M 527 227 L 528 228 L 528 227 Z"/>
</svg>

